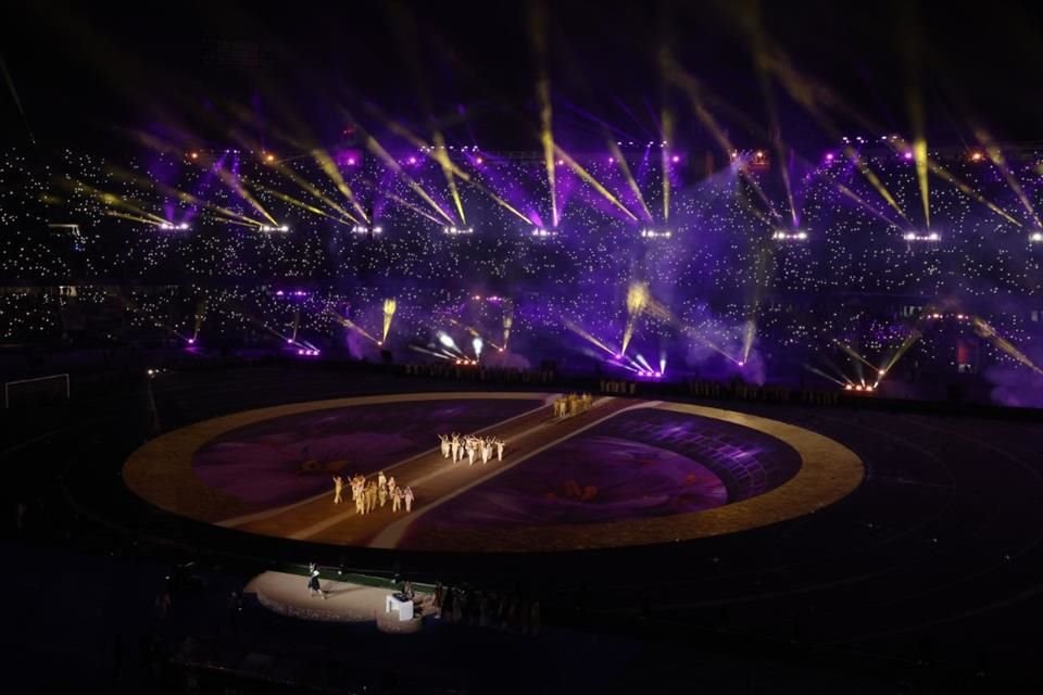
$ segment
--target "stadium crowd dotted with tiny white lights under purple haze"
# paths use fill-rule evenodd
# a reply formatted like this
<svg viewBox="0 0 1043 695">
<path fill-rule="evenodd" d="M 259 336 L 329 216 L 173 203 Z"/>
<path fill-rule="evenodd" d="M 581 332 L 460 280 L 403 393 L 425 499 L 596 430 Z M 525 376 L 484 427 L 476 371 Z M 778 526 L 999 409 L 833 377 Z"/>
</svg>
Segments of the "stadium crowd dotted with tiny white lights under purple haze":
<svg viewBox="0 0 1043 695">
<path fill-rule="evenodd" d="M 621 151 L 620 156 L 628 157 L 642 195 L 657 211 L 662 181 L 657 176 L 641 175 L 643 147 L 641 151 Z M 483 152 L 486 166 L 480 172 L 485 186 L 531 222 L 519 222 L 481 190 L 461 186 L 467 224 L 474 224 L 463 228 L 435 222 L 412 187 L 370 157 L 351 169 L 343 168 L 342 175 L 352 190 L 365 191 L 368 198 L 361 200 L 362 206 L 377 211 L 395 232 L 380 243 L 365 243 L 364 235 L 343 233 L 342 223 L 291 208 L 286 200 L 261 189 L 286 186 L 287 179 L 279 172 L 286 167 L 323 197 L 342 200 L 337 185 L 312 157 L 288 156 L 277 167 L 263 166 L 261 156 L 243 159 L 244 186 L 256 201 L 276 219 L 293 219 L 292 235 L 257 235 L 259 227 L 267 231 L 289 231 L 289 227 L 261 226 L 235 217 L 260 219 L 254 206 L 237 200 L 237 192 L 228 187 L 221 195 L 214 194 L 209 205 L 173 194 L 174 189 L 203 190 L 206 175 L 203 166 L 187 166 L 180 152 L 173 160 L 166 155 L 164 166 L 183 167 L 181 180 L 172 184 L 173 188 L 156 186 L 151 190 L 142 190 L 137 181 L 113 177 L 108 160 L 80 152 L 59 152 L 48 162 L 50 172 L 30 166 L 25 153 L 11 152 L 0 161 L 0 226 L 4 230 L 0 236 L 0 277 L 12 280 L 0 287 L 0 340 L 58 340 L 78 324 L 109 320 L 118 325 L 121 321 L 113 321 L 112 316 L 120 311 L 126 316 L 127 327 L 120 333 L 125 340 L 165 336 L 184 346 L 187 341 L 175 338 L 179 334 L 198 339 L 198 350 L 204 350 L 216 344 L 218 337 L 233 336 L 235 341 L 253 345 L 265 344 L 276 336 L 300 336 L 300 343 L 288 343 L 291 350 L 287 353 L 316 350 L 317 345 L 325 356 L 330 354 L 327 346 L 343 348 L 344 340 L 352 342 L 351 337 L 372 333 L 381 340 L 352 342 L 351 348 L 352 354 L 372 356 L 365 351 L 388 338 L 382 330 L 385 301 L 394 296 L 394 332 L 401 336 L 401 343 L 399 338 L 394 342 L 403 350 L 410 343 L 430 346 L 432 326 L 445 326 L 439 319 L 454 317 L 487 338 L 500 340 L 502 333 L 503 345 L 485 340 L 482 362 L 501 354 L 508 339 L 506 352 L 525 354 L 530 361 L 554 357 L 550 352 L 554 350 L 570 355 L 590 351 L 596 357 L 583 358 L 596 361 L 606 369 L 611 355 L 631 350 L 650 355 L 665 349 L 670 376 L 694 369 L 752 379 L 758 365 L 765 364 L 767 378 L 786 378 L 802 371 L 806 362 L 834 374 L 824 363 L 826 358 L 855 383 L 855 363 L 866 375 L 876 376 L 883 367 L 889 381 L 931 365 L 953 368 L 955 342 L 967 333 L 975 338 L 969 319 L 956 318 L 960 314 L 983 317 L 1029 358 L 1043 344 L 1039 290 L 1043 260 L 1035 253 L 1043 232 L 1033 231 L 1027 217 L 1025 228 L 1019 229 L 964 189 L 946 184 L 935 185 L 930 191 L 931 227 L 944 230 L 944 243 L 937 243 L 942 240 L 938 231 L 896 233 L 896 229 L 916 229 L 925 220 L 916 218 L 917 172 L 896 159 L 893 151 L 863 152 L 862 157 L 888 190 L 903 191 L 895 200 L 917 200 L 917 205 L 905 211 L 914 218 L 913 224 L 903 224 L 857 172 L 843 179 L 844 186 L 865 204 L 839 189 L 833 180 L 851 168 L 851 162 L 837 154 L 814 167 L 808 165 L 804 178 L 794 176 L 794 187 L 804 187 L 797 197 L 803 201 L 797 220 L 801 229 L 813 229 L 814 237 L 808 236 L 786 253 L 775 253 L 767 244 L 766 254 L 764 242 L 777 231 L 800 233 L 801 229 L 780 230 L 779 218 L 761 205 L 759 197 L 750 194 L 741 176 L 727 167 L 705 178 L 702 172 L 694 178 L 691 173 L 679 173 L 681 178 L 673 186 L 670 200 L 669 225 L 671 233 L 676 232 L 673 242 L 644 244 L 634 237 L 636 227 L 641 227 L 614 204 L 606 204 L 603 193 L 571 166 L 557 169 L 558 184 L 568 191 L 568 202 L 558 211 L 560 224 L 544 224 L 552 220 L 542 153 L 507 160 Z M 966 150 L 950 160 L 931 156 L 932 162 L 941 162 L 955 178 L 966 181 L 968 189 L 1016 219 L 1026 214 L 1006 182 L 990 174 L 992 165 L 988 161 L 976 162 Z M 164 155 L 153 159 L 162 162 Z M 205 154 L 202 159 L 219 157 Z M 1032 167 L 1038 159 L 1034 154 L 1025 154 L 1019 161 L 1008 157 L 1009 168 L 1020 177 L 1036 175 Z M 441 169 L 427 157 L 422 160 L 410 169 L 411 176 L 425 189 L 437 191 L 438 198 L 451 201 Z M 618 174 L 619 162 L 608 167 L 605 160 L 603 153 L 576 157 L 588 175 L 640 214 L 636 199 L 628 195 L 629 184 Z M 120 168 L 135 168 L 128 162 L 118 164 Z M 45 204 L 41 201 L 51 192 L 55 175 L 84 181 L 85 187 L 62 190 L 61 205 Z M 781 184 L 772 185 L 770 175 L 770 169 L 758 174 L 758 184 L 779 210 L 786 210 L 786 191 Z M 367 188 L 364 179 L 382 184 Z M 611 185 L 614 180 L 616 184 Z M 251 187 L 254 181 L 256 187 Z M 214 184 L 223 185 L 219 180 Z M 737 195 L 737 189 L 745 195 Z M 115 200 L 138 201 L 147 215 L 136 216 L 151 222 L 109 214 L 112 210 L 92 190 L 112 191 Z M 1036 187 L 1025 186 L 1023 190 L 1030 197 L 1038 194 Z M 316 205 L 325 205 L 313 198 L 313 202 L 318 201 Z M 78 236 L 61 229 L 49 235 L 36 231 L 55 218 L 75 223 Z M 185 231 L 190 233 L 159 235 L 156 229 L 162 227 L 155 219 L 183 220 L 178 225 L 189 225 Z M 354 224 L 374 227 L 361 218 Z M 645 229 L 654 229 L 651 219 L 648 225 Z M 473 235 L 473 240 L 454 243 L 449 237 L 455 235 L 448 231 L 453 228 L 457 233 Z M 554 233 L 538 237 L 540 243 L 526 242 L 541 229 Z M 930 249 L 907 252 L 908 242 L 914 240 L 907 241 L 906 233 L 927 237 L 922 241 Z M 937 238 L 932 240 L 931 235 Z M 1027 249 L 1026 236 L 1032 249 Z M 111 280 L 125 276 L 138 278 L 136 286 L 120 287 Z M 640 296 L 634 298 L 636 311 L 627 301 L 633 277 L 646 285 L 644 303 L 637 302 Z M 461 287 L 462 278 L 469 287 Z M 271 289 L 288 285 L 310 292 L 307 296 L 291 295 L 299 320 L 288 306 L 288 295 Z M 70 287 L 75 287 L 75 296 Z M 291 292 L 296 291 L 303 290 Z M 476 293 L 491 298 L 490 292 L 502 301 L 490 299 L 478 303 L 480 306 L 466 302 Z M 849 302 L 852 294 L 863 299 Z M 115 295 L 126 298 L 136 308 L 114 309 Z M 653 296 L 676 320 L 651 311 Z M 955 298 L 959 307 L 944 305 L 939 298 Z M 203 316 L 197 309 L 201 303 L 208 306 Z M 350 307 L 343 312 L 350 324 L 328 313 L 329 305 L 338 311 Z M 466 319 L 463 312 L 468 313 Z M 925 314 L 952 319 L 925 321 L 938 326 L 923 329 L 922 337 L 907 348 L 906 356 L 888 367 Z M 747 330 L 751 317 L 755 317 L 754 340 Z M 582 327 L 589 338 L 568 324 Z M 156 325 L 168 328 L 158 329 Z M 75 333 L 77 329 L 72 330 Z M 305 346 L 304 337 L 313 346 Z M 620 337 L 627 342 L 624 351 L 619 350 Z M 833 338 L 856 348 L 876 366 L 851 358 Z M 532 343 L 538 340 L 548 352 L 536 353 Z M 470 337 L 467 343 L 461 343 L 466 345 L 466 357 L 455 342 L 452 349 L 440 339 L 433 342 L 437 350 L 431 352 L 449 353 L 452 359 L 473 358 Z M 983 339 L 977 348 L 981 353 L 977 362 L 982 369 L 992 364 L 1023 365 L 1005 348 L 1006 343 Z M 825 356 L 824 350 L 829 351 Z M 765 356 L 768 354 L 770 358 Z M 626 358 L 620 362 L 632 367 Z M 654 368 L 651 359 L 646 362 L 649 366 L 641 365 L 640 369 L 652 376 L 645 378 L 665 372 Z M 867 381 L 867 386 L 871 383 Z"/>
</svg>

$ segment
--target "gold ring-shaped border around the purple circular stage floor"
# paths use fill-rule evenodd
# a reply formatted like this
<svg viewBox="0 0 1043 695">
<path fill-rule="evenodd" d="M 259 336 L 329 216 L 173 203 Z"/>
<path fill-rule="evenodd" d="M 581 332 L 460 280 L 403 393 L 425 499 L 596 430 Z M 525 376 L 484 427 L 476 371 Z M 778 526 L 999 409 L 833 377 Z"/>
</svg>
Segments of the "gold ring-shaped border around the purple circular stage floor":
<svg viewBox="0 0 1043 695">
<path fill-rule="evenodd" d="M 148 442 L 127 458 L 123 468 L 123 478 L 129 490 L 161 509 L 198 521 L 228 526 L 229 519 L 251 515 L 263 516 L 274 511 L 271 508 L 249 505 L 228 493 L 206 485 L 192 470 L 192 458 L 200 447 L 235 429 L 302 413 L 373 404 L 491 399 L 546 402 L 549 397 L 554 397 L 554 394 L 398 393 L 312 401 L 243 410 L 196 422 Z M 801 457 L 800 469 L 778 488 L 711 509 L 580 525 L 497 527 L 485 530 L 453 527 L 447 531 L 445 538 L 441 538 L 438 533 L 422 533 L 412 540 L 410 545 L 399 549 L 457 553 L 565 552 L 691 541 L 749 531 L 815 513 L 851 494 L 865 478 L 863 462 L 854 452 L 835 440 L 803 427 L 737 410 L 661 401 L 636 401 L 632 406 L 616 412 L 608 418 L 634 408 L 654 408 L 717 419 L 762 432 L 793 447 Z M 281 508 L 292 506 L 294 505 Z M 407 526 L 412 527 L 427 510 L 425 506 L 419 506 Z M 230 526 L 234 528 L 235 525 Z M 290 533 L 275 535 L 284 539 L 293 538 Z M 367 547 L 355 543 L 342 545 Z M 397 547 L 397 542 L 385 547 Z"/>
</svg>

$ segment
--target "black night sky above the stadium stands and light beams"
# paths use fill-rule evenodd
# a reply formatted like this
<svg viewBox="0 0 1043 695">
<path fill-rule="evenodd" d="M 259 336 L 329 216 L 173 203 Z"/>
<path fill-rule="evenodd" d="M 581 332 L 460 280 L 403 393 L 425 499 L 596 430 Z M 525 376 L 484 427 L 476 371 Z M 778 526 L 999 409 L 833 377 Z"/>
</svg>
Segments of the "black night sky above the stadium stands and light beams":
<svg viewBox="0 0 1043 695">
<path fill-rule="evenodd" d="M 115 143 L 137 128 L 221 141 L 242 127 L 227 115 L 236 104 L 259 137 L 328 141 L 345 112 L 378 127 L 375 104 L 458 142 L 532 148 L 542 63 L 565 139 L 596 137 L 589 116 L 642 138 L 664 103 L 678 139 L 699 139 L 707 134 L 664 84 L 661 54 L 766 129 L 759 36 L 828 86 L 817 93 L 842 104 L 826 109 L 842 131 L 862 119 L 909 134 L 919 101 L 932 141 L 969 139 L 972 123 L 1000 140 L 1043 140 L 1039 13 L 1005 2 L 15 2 L 0 9 L 0 54 L 25 119 L 5 85 L 0 125 L 8 141 L 32 129 L 49 143 Z M 783 138 L 831 138 L 781 80 L 769 84 Z M 741 117 L 715 115 L 756 142 Z"/>
</svg>

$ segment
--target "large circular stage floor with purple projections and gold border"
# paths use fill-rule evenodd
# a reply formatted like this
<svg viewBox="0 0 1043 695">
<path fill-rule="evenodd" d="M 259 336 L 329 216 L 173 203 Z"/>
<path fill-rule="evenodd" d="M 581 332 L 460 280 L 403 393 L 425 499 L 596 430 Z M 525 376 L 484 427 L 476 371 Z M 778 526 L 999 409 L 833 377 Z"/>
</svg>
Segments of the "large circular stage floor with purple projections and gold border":
<svg viewBox="0 0 1043 695">
<path fill-rule="evenodd" d="M 544 552 L 733 533 L 832 504 L 863 480 L 851 450 L 754 415 L 599 397 L 555 418 L 551 393 L 414 393 L 298 403 L 159 437 L 124 465 L 153 505 L 243 532 L 334 545 Z M 438 434 L 506 442 L 453 464 Z M 416 495 L 355 514 L 332 476 L 384 471 Z"/>
</svg>

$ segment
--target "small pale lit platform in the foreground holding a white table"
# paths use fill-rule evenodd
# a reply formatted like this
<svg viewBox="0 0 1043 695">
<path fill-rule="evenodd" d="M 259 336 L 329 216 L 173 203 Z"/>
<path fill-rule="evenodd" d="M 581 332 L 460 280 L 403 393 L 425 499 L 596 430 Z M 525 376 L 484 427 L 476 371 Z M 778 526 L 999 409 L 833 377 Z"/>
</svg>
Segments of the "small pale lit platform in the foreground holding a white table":
<svg viewBox="0 0 1043 695">
<path fill-rule="evenodd" d="M 246 592 L 256 594 L 257 602 L 274 612 L 323 622 L 374 622 L 381 632 L 414 633 L 423 619 L 433 615 L 432 594 L 416 591 L 413 619 L 399 620 L 399 614 L 386 612 L 390 586 L 369 585 L 350 581 L 324 579 L 326 598 L 312 596 L 307 578 L 290 572 L 264 572 L 247 584 Z"/>
</svg>

